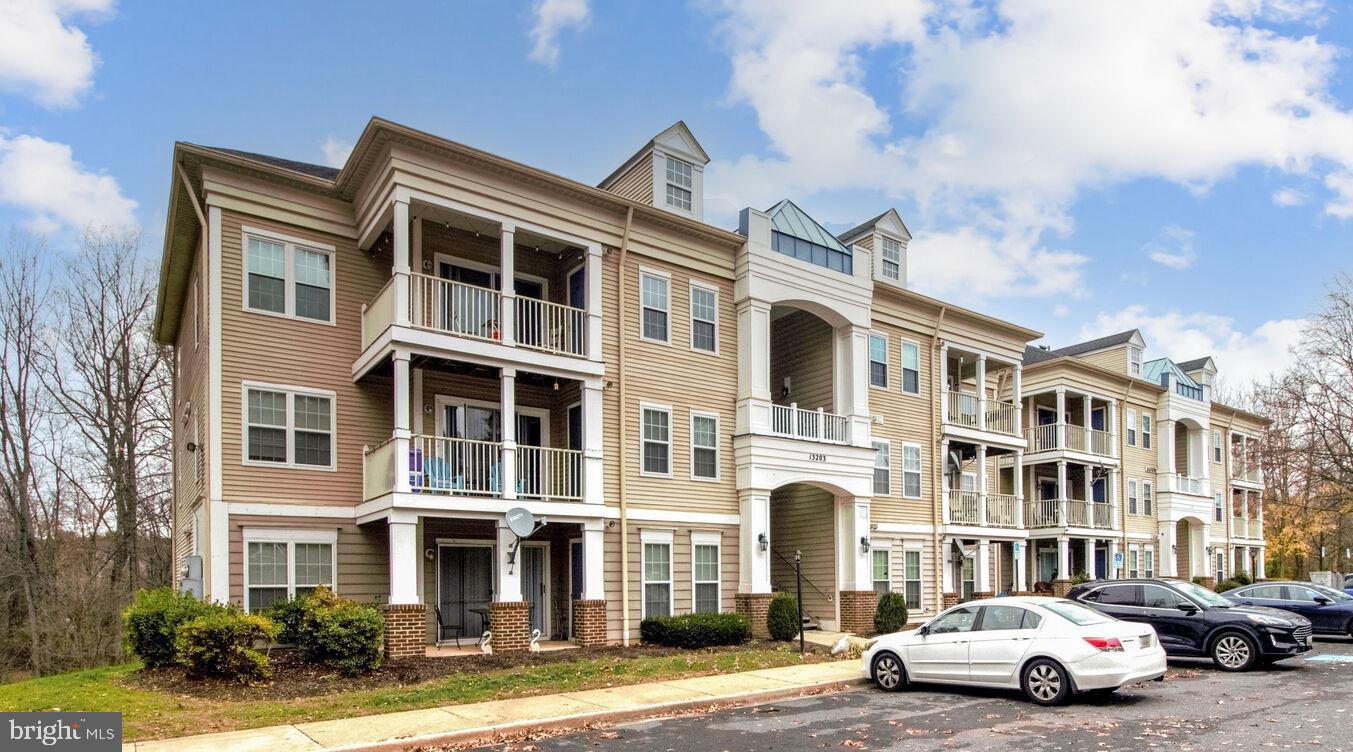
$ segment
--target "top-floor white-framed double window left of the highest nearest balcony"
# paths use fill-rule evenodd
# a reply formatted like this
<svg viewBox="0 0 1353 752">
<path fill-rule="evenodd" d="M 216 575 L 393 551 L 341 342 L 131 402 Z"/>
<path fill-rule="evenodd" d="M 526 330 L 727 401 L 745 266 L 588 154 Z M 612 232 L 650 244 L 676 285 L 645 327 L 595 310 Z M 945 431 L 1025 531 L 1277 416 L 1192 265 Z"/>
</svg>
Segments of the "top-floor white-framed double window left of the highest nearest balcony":
<svg viewBox="0 0 1353 752">
<path fill-rule="evenodd" d="M 331 323 L 333 249 L 245 230 L 245 308 Z"/>
</svg>

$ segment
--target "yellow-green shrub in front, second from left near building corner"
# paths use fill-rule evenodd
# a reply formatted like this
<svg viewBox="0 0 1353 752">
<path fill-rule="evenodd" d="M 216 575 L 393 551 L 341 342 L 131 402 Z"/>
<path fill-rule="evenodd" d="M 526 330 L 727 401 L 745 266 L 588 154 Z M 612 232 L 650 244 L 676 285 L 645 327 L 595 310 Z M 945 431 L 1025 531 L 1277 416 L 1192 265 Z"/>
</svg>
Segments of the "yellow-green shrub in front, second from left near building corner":
<svg viewBox="0 0 1353 752">
<path fill-rule="evenodd" d="M 179 625 L 175 647 L 189 676 L 254 682 L 272 675 L 268 656 L 254 644 L 276 638 L 277 626 L 267 617 L 215 609 Z"/>
</svg>

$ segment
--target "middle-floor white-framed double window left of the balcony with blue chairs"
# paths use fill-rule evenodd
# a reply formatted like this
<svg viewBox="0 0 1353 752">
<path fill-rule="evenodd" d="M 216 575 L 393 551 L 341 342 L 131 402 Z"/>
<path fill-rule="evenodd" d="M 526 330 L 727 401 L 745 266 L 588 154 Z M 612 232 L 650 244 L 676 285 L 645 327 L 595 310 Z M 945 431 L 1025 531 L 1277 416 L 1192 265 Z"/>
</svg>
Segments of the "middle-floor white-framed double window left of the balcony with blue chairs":
<svg viewBox="0 0 1353 752">
<path fill-rule="evenodd" d="M 245 385 L 245 461 L 334 467 L 333 392 Z"/>
</svg>

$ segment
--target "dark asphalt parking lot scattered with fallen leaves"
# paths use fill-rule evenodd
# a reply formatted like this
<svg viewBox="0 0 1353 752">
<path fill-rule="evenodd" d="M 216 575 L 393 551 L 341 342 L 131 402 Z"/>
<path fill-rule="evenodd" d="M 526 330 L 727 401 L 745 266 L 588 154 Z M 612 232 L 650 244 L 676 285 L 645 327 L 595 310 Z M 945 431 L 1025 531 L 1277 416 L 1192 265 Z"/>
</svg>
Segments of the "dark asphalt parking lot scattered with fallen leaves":
<svg viewBox="0 0 1353 752">
<path fill-rule="evenodd" d="M 1246 674 L 1172 660 L 1165 682 L 1039 707 L 1015 692 L 843 692 L 593 729 L 494 749 L 1321 749 L 1353 752 L 1353 640 Z"/>
</svg>

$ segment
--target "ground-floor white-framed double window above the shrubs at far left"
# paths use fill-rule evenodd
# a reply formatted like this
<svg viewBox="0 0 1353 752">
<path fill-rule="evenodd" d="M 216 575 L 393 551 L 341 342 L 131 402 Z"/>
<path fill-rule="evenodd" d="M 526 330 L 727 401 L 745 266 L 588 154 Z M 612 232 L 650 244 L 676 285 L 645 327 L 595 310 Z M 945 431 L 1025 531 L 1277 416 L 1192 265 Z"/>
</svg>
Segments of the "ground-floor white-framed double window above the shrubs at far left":
<svg viewBox="0 0 1353 752">
<path fill-rule="evenodd" d="M 333 530 L 245 529 L 245 609 L 260 611 L 318 586 L 334 586 Z"/>
</svg>

